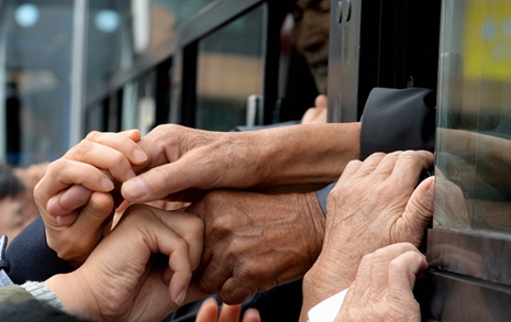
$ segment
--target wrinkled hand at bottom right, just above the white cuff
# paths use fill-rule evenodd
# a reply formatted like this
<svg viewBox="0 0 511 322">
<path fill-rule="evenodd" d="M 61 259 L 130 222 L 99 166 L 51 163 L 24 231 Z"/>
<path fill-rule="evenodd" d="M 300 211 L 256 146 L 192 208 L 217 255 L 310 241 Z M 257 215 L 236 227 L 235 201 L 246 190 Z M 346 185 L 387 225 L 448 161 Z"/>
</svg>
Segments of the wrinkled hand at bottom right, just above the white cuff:
<svg viewBox="0 0 511 322">
<path fill-rule="evenodd" d="M 413 286 L 415 277 L 426 268 L 424 255 L 408 243 L 366 255 L 335 321 L 420 322 Z"/>
</svg>

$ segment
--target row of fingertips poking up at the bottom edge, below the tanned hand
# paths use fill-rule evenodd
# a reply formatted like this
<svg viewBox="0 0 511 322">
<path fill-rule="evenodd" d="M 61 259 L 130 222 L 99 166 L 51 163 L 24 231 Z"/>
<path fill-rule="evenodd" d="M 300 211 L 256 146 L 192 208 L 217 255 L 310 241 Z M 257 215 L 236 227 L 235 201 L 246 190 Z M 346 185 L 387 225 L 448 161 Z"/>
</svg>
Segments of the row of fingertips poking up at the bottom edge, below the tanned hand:
<svg viewBox="0 0 511 322">
<path fill-rule="evenodd" d="M 207 299 L 197 313 L 196 322 L 238 322 L 241 304 L 222 304 L 219 317 L 219 306 L 215 299 Z M 242 322 L 260 322 L 259 312 L 256 309 L 248 309 L 243 314 Z"/>
</svg>

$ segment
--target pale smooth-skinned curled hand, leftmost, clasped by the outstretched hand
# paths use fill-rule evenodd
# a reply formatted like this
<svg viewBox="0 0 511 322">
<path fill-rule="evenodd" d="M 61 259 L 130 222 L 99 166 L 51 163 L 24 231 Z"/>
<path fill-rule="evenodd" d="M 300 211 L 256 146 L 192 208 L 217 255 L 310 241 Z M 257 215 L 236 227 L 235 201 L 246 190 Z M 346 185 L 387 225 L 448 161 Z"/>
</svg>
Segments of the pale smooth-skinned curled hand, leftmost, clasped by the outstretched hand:
<svg viewBox="0 0 511 322">
<path fill-rule="evenodd" d="M 92 132 L 51 163 L 35 187 L 48 246 L 71 265 L 84 263 L 110 231 L 114 184 L 134 177 L 132 164 L 146 159 L 138 138 L 138 131 Z"/>
</svg>

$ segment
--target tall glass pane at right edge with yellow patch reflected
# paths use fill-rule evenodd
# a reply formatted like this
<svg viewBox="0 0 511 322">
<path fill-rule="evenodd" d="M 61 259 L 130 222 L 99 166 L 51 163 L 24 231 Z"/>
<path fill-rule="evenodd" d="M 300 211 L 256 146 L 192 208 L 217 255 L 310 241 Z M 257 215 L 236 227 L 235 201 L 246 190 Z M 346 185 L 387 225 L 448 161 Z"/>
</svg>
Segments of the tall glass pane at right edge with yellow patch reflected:
<svg viewBox="0 0 511 322">
<path fill-rule="evenodd" d="M 437 225 L 511 232 L 511 2 L 443 2 Z"/>
</svg>

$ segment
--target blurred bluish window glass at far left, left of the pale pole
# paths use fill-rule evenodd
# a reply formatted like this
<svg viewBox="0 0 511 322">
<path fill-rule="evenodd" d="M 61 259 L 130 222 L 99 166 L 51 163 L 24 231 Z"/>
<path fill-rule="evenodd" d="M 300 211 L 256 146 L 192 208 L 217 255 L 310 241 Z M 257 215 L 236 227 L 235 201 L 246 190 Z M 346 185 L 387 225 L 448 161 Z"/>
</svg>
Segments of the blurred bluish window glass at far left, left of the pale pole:
<svg viewBox="0 0 511 322">
<path fill-rule="evenodd" d="M 68 148 L 73 1 L 2 1 L 0 8 L 7 162 L 54 159 Z"/>
</svg>

